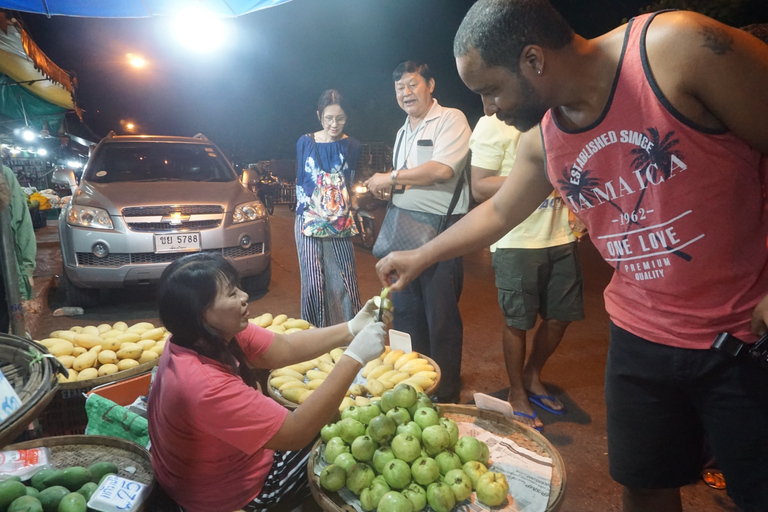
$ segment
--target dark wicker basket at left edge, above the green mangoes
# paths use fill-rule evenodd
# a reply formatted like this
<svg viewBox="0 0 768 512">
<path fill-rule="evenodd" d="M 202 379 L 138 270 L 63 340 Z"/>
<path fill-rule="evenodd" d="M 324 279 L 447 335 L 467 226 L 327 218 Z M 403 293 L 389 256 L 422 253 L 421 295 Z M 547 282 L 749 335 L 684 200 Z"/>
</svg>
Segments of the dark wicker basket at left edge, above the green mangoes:
<svg viewBox="0 0 768 512">
<path fill-rule="evenodd" d="M 61 365 L 53 356 L 39 358 L 39 354 L 48 350 L 34 341 L 0 333 L 0 370 L 21 401 L 21 407 L 0 423 L 2 446 L 24 432 L 56 394 Z"/>
</svg>

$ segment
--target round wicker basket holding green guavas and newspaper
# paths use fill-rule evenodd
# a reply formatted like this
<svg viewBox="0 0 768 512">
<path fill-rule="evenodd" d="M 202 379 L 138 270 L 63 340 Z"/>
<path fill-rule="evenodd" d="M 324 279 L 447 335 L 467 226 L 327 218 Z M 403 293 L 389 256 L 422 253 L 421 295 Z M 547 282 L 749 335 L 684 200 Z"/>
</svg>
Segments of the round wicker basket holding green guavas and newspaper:
<svg viewBox="0 0 768 512">
<path fill-rule="evenodd" d="M 549 489 L 549 503 L 547 512 L 559 510 L 565 494 L 565 464 L 560 453 L 539 432 L 520 422 L 509 419 L 497 412 L 477 409 L 469 405 L 440 404 L 443 415 L 456 422 L 474 423 L 494 434 L 511 439 L 519 446 L 532 452 L 544 455 L 552 459 L 552 482 Z M 323 440 L 318 439 L 312 450 L 307 464 L 309 487 L 312 496 L 323 510 L 331 512 L 356 512 L 355 508 L 346 503 L 335 492 L 328 492 L 320 487 L 320 481 L 315 475 L 315 463 L 320 457 L 320 446 Z"/>
</svg>

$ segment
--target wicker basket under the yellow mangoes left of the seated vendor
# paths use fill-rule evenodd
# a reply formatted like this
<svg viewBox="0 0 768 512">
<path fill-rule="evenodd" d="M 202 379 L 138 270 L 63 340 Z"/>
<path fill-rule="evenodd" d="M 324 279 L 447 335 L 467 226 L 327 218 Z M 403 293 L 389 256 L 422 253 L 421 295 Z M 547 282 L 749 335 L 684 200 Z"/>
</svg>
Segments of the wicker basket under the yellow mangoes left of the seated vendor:
<svg viewBox="0 0 768 512">
<path fill-rule="evenodd" d="M 152 371 L 159 359 L 140 364 L 130 370 L 105 375 L 90 380 L 62 382 L 51 403 L 40 415 L 39 423 L 43 436 L 63 436 L 85 433 L 88 416 L 85 413 L 85 394 L 96 386 L 118 382 L 135 375 Z"/>
</svg>

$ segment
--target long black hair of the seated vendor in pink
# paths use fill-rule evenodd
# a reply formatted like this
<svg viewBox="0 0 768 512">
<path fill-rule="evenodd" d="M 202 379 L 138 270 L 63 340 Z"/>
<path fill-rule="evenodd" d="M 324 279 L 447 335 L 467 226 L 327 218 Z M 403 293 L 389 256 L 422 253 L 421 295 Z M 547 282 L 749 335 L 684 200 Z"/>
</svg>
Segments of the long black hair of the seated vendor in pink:
<svg viewBox="0 0 768 512">
<path fill-rule="evenodd" d="M 183 256 L 163 271 L 157 306 L 160 320 L 172 334 L 171 343 L 229 366 L 255 388 L 256 376 L 237 340 L 221 338 L 203 321 L 203 312 L 213 304 L 219 289 L 239 282 L 237 270 L 220 254 Z"/>
</svg>

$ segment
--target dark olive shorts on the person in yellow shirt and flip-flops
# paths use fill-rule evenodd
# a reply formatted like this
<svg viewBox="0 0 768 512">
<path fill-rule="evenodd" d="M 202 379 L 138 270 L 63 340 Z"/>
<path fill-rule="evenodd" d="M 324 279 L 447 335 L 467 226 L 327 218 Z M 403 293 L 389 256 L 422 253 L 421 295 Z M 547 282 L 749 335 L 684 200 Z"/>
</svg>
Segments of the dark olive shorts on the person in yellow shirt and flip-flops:
<svg viewBox="0 0 768 512">
<path fill-rule="evenodd" d="M 537 316 L 584 319 L 584 279 L 576 242 L 544 249 L 496 249 L 493 253 L 499 306 L 507 325 L 533 329 Z"/>
</svg>

